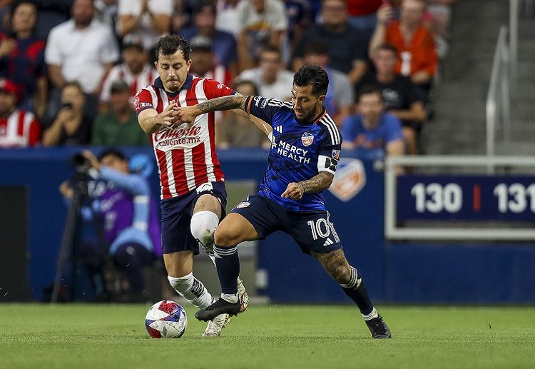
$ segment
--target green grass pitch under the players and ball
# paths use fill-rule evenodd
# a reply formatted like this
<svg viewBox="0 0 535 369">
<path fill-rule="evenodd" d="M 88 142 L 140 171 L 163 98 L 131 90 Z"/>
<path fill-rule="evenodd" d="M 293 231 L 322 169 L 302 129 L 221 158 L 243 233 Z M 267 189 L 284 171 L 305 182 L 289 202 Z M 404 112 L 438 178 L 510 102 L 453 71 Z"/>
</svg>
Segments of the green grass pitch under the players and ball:
<svg viewBox="0 0 535 369">
<path fill-rule="evenodd" d="M 186 307 L 153 339 L 146 305 L 0 304 L 0 368 L 535 368 L 534 307 L 379 306 L 372 340 L 351 305 L 251 305 L 220 338 Z"/>
</svg>

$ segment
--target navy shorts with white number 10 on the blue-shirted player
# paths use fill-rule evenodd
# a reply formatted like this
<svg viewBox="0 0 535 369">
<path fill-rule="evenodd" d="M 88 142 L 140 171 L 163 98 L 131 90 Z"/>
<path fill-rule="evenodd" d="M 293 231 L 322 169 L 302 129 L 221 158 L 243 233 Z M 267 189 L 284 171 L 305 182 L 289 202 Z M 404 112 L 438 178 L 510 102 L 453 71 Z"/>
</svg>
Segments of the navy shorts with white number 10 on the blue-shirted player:
<svg viewBox="0 0 535 369">
<path fill-rule="evenodd" d="M 282 231 L 294 239 L 303 253 L 330 253 L 342 248 L 328 211 L 290 211 L 263 196 L 248 196 L 230 213 L 238 213 L 255 227 L 261 238 Z"/>
</svg>

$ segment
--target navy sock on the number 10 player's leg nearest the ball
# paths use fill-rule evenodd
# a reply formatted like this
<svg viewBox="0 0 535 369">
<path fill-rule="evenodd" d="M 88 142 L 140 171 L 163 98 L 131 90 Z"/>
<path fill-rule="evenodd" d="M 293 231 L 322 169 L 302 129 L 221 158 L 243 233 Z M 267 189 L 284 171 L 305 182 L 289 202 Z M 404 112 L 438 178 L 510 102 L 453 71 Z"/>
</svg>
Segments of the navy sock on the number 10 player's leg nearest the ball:
<svg viewBox="0 0 535 369">
<path fill-rule="evenodd" d="M 236 295 L 238 293 L 238 276 L 240 275 L 238 246 L 227 248 L 214 245 L 213 252 L 221 284 L 221 293 Z"/>
</svg>

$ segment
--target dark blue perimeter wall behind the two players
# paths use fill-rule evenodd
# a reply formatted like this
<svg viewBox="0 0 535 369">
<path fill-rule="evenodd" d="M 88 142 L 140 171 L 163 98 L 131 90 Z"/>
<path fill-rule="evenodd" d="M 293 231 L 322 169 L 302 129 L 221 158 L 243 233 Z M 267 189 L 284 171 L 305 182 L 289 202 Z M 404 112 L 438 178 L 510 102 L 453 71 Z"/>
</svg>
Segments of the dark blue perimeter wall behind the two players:
<svg viewBox="0 0 535 369">
<path fill-rule="evenodd" d="M 10 282 L 15 277 L 10 273 L 16 270 L 20 290 L 24 291 L 23 276 L 27 275 L 31 298 L 40 300 L 44 288 L 53 282 L 67 213 L 58 186 L 72 176 L 70 158 L 78 151 L 80 148 L 0 151 L 0 186 L 26 189 L 25 196 L 7 196 L 11 202 L 5 195 L 1 198 L 0 288 L 11 286 L 12 290 Z M 125 151 L 153 157 L 150 148 Z M 260 181 L 267 152 L 220 151 L 219 158 L 229 181 Z M 374 168 L 373 160 L 360 159 L 366 178 L 360 193 L 340 201 L 325 191 L 325 198 L 347 258 L 365 276 L 372 298 L 389 303 L 535 301 L 535 244 L 385 242 L 384 173 Z M 151 184 L 159 193 L 156 173 Z M 20 209 L 27 209 L 25 216 Z M 20 221 L 10 221 L 15 219 L 12 217 Z M 347 302 L 322 268 L 282 233 L 260 241 L 258 268 L 267 276 L 267 285 L 259 292 L 273 301 Z M 21 293 L 15 300 L 27 296 Z"/>
</svg>

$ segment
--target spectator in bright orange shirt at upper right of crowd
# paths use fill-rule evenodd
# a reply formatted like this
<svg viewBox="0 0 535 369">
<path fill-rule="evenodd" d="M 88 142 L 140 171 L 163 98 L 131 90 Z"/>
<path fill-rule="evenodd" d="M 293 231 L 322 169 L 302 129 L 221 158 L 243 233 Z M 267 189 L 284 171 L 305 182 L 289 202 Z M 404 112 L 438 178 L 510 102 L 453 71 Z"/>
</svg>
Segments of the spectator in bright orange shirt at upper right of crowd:
<svg viewBox="0 0 535 369">
<path fill-rule="evenodd" d="M 370 41 L 370 56 L 380 44 L 391 44 L 399 59 L 396 72 L 410 76 L 427 97 L 437 71 L 437 51 L 432 33 L 424 26 L 424 0 L 403 0 L 399 21 L 392 19 L 392 6 L 384 4 L 377 11 L 377 26 Z"/>
</svg>

